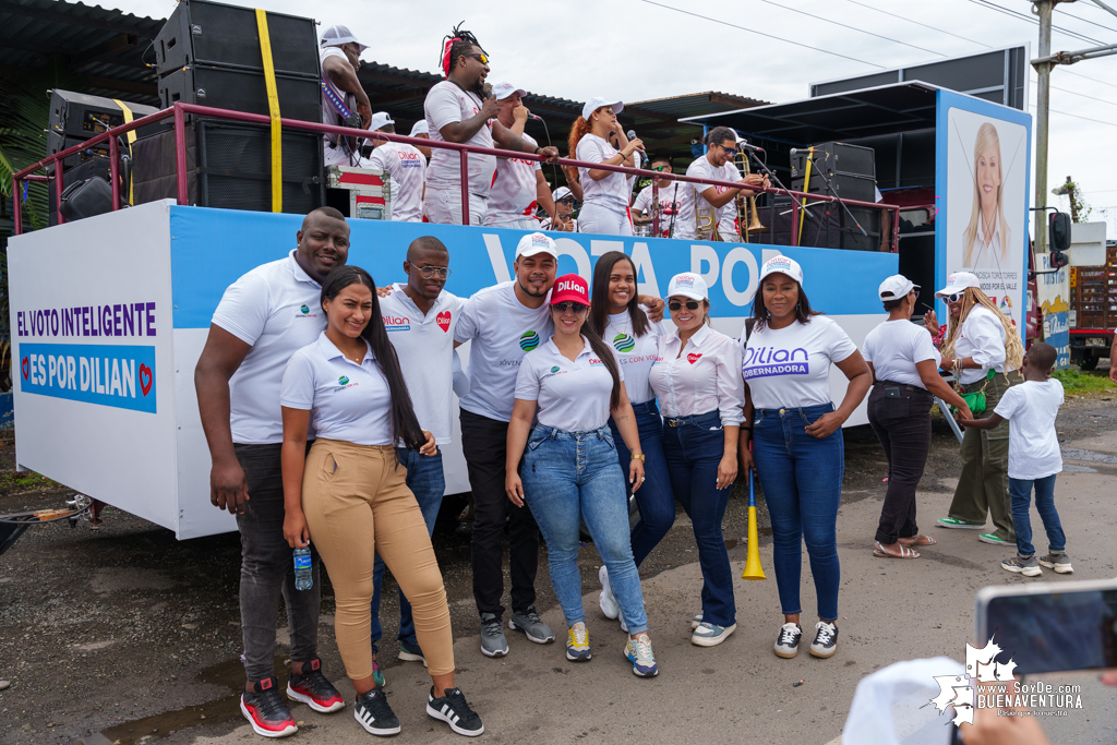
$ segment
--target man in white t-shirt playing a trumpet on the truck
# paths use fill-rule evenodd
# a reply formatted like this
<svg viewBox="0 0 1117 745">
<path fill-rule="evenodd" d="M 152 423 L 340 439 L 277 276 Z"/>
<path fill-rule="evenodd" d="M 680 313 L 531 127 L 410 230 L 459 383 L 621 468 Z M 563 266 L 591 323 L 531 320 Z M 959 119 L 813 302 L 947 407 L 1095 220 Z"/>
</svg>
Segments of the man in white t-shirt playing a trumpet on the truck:
<svg viewBox="0 0 1117 745">
<path fill-rule="evenodd" d="M 697 179 L 714 179 L 741 184 L 732 187 L 707 187 L 700 183 L 684 182 L 679 187 L 679 214 L 675 225 L 675 237 L 685 240 L 739 240 L 733 236 L 722 236 L 720 225 L 728 221 L 727 228 L 736 232 L 733 214 L 736 210 L 734 200 L 741 197 L 754 197 L 756 189 L 767 189 L 767 176 L 753 173 L 744 179 L 733 164 L 737 154 L 737 133 L 727 126 L 714 127 L 706 135 L 706 154 L 695 160 L 687 168 L 687 175 Z M 724 212 L 723 212 L 724 210 Z"/>
</svg>

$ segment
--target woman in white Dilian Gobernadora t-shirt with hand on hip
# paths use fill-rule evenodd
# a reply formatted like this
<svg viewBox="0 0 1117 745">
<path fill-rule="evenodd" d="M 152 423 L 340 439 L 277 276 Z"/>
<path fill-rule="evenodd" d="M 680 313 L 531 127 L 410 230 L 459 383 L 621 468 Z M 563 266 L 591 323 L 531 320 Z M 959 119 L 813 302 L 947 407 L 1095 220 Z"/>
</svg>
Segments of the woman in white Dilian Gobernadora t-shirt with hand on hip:
<svg viewBox="0 0 1117 745">
<path fill-rule="evenodd" d="M 838 649 L 838 505 L 846 472 L 841 426 L 869 392 L 869 366 L 841 326 L 811 309 L 803 270 L 786 256 L 761 267 L 753 317 L 741 335 L 745 380 L 744 443 L 741 467 L 760 477 L 768 514 L 775 582 L 784 623 L 775 653 L 799 653 L 803 631 L 799 602 L 803 542 L 811 558 L 818 595 L 811 655 L 832 657 Z M 830 395 L 830 366 L 849 386 L 841 405 Z M 747 442 L 752 436 L 753 452 Z"/>
</svg>

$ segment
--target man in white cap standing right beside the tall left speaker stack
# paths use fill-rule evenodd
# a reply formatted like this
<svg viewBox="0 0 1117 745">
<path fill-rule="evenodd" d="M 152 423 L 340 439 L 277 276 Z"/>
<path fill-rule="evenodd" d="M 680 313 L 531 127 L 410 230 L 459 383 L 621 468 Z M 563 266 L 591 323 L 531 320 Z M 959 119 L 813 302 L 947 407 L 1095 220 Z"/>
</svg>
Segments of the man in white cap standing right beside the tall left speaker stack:
<svg viewBox="0 0 1117 745">
<path fill-rule="evenodd" d="M 361 69 L 361 52 L 369 46 L 361 44 L 347 26 L 331 26 L 322 32 L 322 123 L 333 126 L 353 126 L 346 123 L 347 112 L 361 116 L 361 127 L 372 123 L 372 104 L 361 87 L 356 73 Z M 359 165 L 367 168 L 361 157 L 356 137 L 322 136 L 326 165 Z"/>
</svg>

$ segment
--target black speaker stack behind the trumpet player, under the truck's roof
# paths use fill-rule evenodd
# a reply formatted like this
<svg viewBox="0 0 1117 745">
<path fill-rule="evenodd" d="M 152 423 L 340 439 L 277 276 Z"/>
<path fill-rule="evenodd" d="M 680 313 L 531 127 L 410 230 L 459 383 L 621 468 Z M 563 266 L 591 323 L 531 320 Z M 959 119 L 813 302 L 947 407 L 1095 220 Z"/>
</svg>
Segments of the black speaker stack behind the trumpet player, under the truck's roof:
<svg viewBox="0 0 1117 745">
<path fill-rule="evenodd" d="M 804 191 L 806 154 L 805 150 L 796 150 L 791 156 L 792 191 Z M 850 199 L 859 202 L 876 202 L 876 151 L 872 147 L 848 145 L 842 142 L 824 142 L 821 145 L 814 145 L 811 180 L 806 187 L 805 191 L 810 194 L 839 197 L 843 200 Z M 834 213 L 840 223 L 836 235 L 837 245 L 831 246 L 832 248 L 860 251 L 880 249 L 880 210 L 849 206 L 849 211 L 869 233 L 868 237 L 861 235 L 857 225 L 841 206 L 832 204 L 829 210 Z M 833 231 L 829 232 L 834 236 Z M 834 240 L 832 239 L 830 242 L 832 243 Z"/>
</svg>

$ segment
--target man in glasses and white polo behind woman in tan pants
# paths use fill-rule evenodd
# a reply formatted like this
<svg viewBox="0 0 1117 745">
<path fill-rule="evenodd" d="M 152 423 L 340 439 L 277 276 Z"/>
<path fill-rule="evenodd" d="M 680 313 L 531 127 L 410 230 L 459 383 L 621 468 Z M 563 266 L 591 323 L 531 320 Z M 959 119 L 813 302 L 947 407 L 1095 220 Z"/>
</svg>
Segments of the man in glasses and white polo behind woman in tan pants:
<svg viewBox="0 0 1117 745">
<path fill-rule="evenodd" d="M 438 238 L 422 236 L 408 246 L 403 262 L 405 285 L 393 285 L 392 293 L 380 298 L 388 338 L 395 347 L 400 370 L 411 394 L 419 424 L 435 434 L 441 448 L 451 441 L 454 416 L 454 332 L 466 300 L 447 293 L 443 287 L 450 276 L 450 254 Z M 419 503 L 427 532 L 435 532 L 435 520 L 446 493 L 442 452 L 423 456 L 416 450 L 397 450 L 408 471 L 407 484 Z M 380 625 L 380 584 L 384 563 L 376 557 L 373 572 L 372 644 L 382 636 Z M 411 603 L 400 592 L 400 659 L 423 661 L 416 639 Z"/>
</svg>

